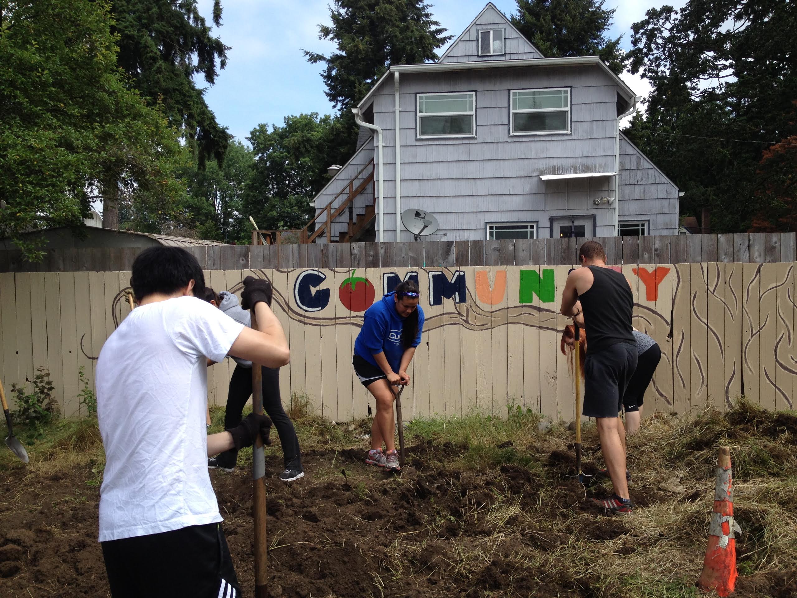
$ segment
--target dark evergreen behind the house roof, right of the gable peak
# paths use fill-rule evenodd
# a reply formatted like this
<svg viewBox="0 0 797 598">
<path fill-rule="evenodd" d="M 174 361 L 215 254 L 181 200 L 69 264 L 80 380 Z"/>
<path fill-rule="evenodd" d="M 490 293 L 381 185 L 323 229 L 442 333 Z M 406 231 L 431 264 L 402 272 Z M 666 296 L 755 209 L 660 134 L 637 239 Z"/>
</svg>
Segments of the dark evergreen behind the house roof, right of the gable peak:
<svg viewBox="0 0 797 598">
<path fill-rule="evenodd" d="M 614 73 L 625 69 L 622 35 L 607 37 L 617 10 L 603 8 L 604 0 L 517 0 L 512 25 L 544 57 L 599 56 Z"/>
</svg>

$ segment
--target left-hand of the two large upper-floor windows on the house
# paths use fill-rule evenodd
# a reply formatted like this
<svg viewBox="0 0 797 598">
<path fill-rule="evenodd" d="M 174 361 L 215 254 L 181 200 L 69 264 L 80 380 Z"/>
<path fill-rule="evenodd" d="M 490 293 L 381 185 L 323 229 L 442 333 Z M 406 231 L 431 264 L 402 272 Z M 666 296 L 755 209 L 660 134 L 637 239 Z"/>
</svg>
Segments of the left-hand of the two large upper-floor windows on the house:
<svg viewBox="0 0 797 598">
<path fill-rule="evenodd" d="M 475 137 L 476 92 L 418 93 L 418 137 Z"/>
</svg>

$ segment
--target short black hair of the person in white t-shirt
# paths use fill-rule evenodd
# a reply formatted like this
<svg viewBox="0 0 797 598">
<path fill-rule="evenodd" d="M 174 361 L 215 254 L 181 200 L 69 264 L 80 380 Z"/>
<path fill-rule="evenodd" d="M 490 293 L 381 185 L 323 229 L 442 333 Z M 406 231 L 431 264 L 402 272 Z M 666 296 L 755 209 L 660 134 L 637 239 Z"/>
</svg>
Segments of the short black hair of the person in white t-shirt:
<svg viewBox="0 0 797 598">
<path fill-rule="evenodd" d="M 205 275 L 197 258 L 182 247 L 147 247 L 133 262 L 130 285 L 135 301 L 154 293 L 171 295 L 194 281 L 194 297 L 205 295 Z"/>
</svg>

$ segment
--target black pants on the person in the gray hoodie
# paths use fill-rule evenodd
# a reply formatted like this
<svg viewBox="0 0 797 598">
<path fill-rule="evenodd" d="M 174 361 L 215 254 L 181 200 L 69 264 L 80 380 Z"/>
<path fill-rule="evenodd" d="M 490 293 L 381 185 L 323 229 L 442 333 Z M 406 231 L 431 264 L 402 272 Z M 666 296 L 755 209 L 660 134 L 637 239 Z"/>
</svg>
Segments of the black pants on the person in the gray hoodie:
<svg viewBox="0 0 797 598">
<path fill-rule="evenodd" d="M 299 439 L 293 429 L 288 414 L 282 408 L 280 399 L 280 369 L 263 368 L 263 411 L 269 415 L 282 443 L 282 455 L 285 459 L 285 469 L 301 470 L 299 454 Z M 224 428 L 238 426 L 241 423 L 244 405 L 252 395 L 252 368 L 243 368 L 235 365 L 233 377 L 230 378 L 230 391 L 227 394 L 227 407 L 224 414 Z M 218 455 L 220 467 L 234 467 L 238 461 L 238 450 L 230 449 Z"/>
</svg>

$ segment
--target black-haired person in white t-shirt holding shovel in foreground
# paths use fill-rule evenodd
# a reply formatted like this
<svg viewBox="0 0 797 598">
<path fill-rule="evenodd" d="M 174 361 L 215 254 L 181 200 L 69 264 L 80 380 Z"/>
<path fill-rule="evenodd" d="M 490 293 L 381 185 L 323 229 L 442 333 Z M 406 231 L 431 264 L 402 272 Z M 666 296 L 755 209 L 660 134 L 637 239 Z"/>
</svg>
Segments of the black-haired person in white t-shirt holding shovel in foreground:
<svg viewBox="0 0 797 598">
<path fill-rule="evenodd" d="M 251 414 L 206 435 L 207 360 L 289 362 L 285 332 L 268 305 L 271 286 L 244 281 L 253 330 L 194 297 L 205 278 L 186 250 L 144 250 L 131 285 L 138 306 L 105 341 L 96 366 L 106 461 L 99 540 L 112 596 L 238 598 L 207 458 L 252 446 L 271 422 Z"/>
</svg>

